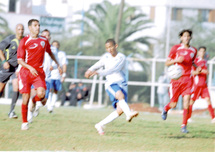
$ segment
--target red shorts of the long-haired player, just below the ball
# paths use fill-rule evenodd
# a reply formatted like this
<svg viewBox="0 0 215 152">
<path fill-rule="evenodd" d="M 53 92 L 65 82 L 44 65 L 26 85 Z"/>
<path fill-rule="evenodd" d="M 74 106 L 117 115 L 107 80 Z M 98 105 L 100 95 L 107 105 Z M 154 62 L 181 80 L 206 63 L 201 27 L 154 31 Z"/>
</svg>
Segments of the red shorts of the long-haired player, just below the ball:
<svg viewBox="0 0 215 152">
<path fill-rule="evenodd" d="M 182 76 L 178 80 L 171 80 L 169 88 L 170 102 L 178 102 L 180 95 L 192 94 L 193 79 L 190 76 Z"/>
</svg>

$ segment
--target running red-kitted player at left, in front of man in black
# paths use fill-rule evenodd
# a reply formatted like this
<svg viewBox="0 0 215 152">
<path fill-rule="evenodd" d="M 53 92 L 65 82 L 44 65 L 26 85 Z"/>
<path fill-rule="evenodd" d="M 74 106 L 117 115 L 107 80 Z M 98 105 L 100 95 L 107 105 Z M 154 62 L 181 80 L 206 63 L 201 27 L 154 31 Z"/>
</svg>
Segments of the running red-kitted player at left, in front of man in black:
<svg viewBox="0 0 215 152">
<path fill-rule="evenodd" d="M 45 51 L 58 65 L 58 70 L 62 70 L 50 50 L 50 44 L 45 37 L 39 36 L 40 24 L 36 19 L 28 21 L 30 34 L 24 37 L 17 51 L 18 63 L 22 66 L 19 72 L 19 91 L 22 93 L 22 130 L 28 129 L 28 102 L 30 99 L 31 86 L 37 90 L 37 94 L 32 101 L 41 101 L 45 96 L 46 82 L 43 71 L 43 60 Z"/>
</svg>

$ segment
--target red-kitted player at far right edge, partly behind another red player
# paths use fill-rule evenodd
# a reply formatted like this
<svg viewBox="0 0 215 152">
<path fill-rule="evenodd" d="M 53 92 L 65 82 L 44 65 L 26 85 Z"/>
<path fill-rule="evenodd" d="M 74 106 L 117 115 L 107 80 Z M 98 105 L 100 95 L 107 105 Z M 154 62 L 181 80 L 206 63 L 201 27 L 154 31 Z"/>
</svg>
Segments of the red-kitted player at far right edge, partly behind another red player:
<svg viewBox="0 0 215 152">
<path fill-rule="evenodd" d="M 192 107 L 194 102 L 201 96 L 208 103 L 208 110 L 212 118 L 211 123 L 215 123 L 214 109 L 211 105 L 210 94 L 207 86 L 208 70 L 207 70 L 207 61 L 204 59 L 205 53 L 206 53 L 206 47 L 205 46 L 199 47 L 198 57 L 194 61 L 194 63 L 201 68 L 201 71 L 196 69 L 196 67 L 193 67 L 193 70 L 192 70 L 194 82 L 193 82 L 193 94 L 191 95 L 191 101 L 189 106 L 188 119 L 192 115 Z"/>
</svg>

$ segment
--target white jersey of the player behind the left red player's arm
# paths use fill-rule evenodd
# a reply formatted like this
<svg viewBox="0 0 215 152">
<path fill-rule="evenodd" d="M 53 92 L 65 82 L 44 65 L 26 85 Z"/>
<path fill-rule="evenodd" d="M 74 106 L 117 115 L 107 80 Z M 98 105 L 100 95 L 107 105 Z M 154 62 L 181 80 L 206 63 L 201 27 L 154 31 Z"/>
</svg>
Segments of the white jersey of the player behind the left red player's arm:
<svg viewBox="0 0 215 152">
<path fill-rule="evenodd" d="M 60 67 L 62 67 L 65 64 L 66 65 L 68 64 L 65 52 L 58 51 L 58 49 L 54 49 L 53 51 L 55 51 L 55 58 L 57 59 Z M 51 71 L 51 79 L 60 80 L 61 75 L 60 75 L 59 70 L 57 68 L 57 65 L 56 65 L 56 63 L 54 61 L 52 61 L 52 66 L 53 66 L 54 69 Z"/>
</svg>

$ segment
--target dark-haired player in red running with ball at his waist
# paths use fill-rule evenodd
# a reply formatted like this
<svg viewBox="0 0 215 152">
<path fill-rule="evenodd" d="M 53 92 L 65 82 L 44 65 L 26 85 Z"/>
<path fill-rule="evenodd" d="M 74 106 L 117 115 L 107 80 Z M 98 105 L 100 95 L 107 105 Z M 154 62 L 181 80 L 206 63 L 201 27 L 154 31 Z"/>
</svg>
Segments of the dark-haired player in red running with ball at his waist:
<svg viewBox="0 0 215 152">
<path fill-rule="evenodd" d="M 193 85 L 193 81 L 191 78 L 191 69 L 194 59 L 196 58 L 197 50 L 196 48 L 190 46 L 190 40 L 192 38 L 192 31 L 185 29 L 179 33 L 179 37 L 181 40 L 180 44 L 174 45 L 169 53 L 169 56 L 166 60 L 166 66 L 170 66 L 173 64 L 178 64 L 182 66 L 183 73 L 182 76 L 178 80 L 171 80 L 169 94 L 170 94 L 170 102 L 164 107 L 162 112 L 162 119 L 166 120 L 167 113 L 169 109 L 175 108 L 178 102 L 178 98 L 180 95 L 183 97 L 183 122 L 181 125 L 181 132 L 188 133 L 187 130 L 187 116 L 188 116 L 188 108 L 189 101 L 191 95 L 191 89 Z"/>
</svg>

